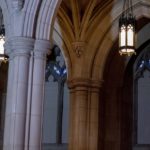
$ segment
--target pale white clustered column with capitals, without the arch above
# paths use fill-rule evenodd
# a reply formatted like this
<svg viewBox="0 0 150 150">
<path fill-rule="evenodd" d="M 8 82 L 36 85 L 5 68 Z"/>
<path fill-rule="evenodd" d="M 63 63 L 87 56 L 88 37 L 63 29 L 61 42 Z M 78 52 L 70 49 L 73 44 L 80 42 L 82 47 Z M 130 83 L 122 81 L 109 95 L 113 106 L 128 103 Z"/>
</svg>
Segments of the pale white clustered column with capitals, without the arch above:
<svg viewBox="0 0 150 150">
<path fill-rule="evenodd" d="M 49 45 L 48 41 L 24 37 L 13 37 L 6 42 L 9 74 L 3 150 L 41 149 L 45 62 Z"/>
</svg>

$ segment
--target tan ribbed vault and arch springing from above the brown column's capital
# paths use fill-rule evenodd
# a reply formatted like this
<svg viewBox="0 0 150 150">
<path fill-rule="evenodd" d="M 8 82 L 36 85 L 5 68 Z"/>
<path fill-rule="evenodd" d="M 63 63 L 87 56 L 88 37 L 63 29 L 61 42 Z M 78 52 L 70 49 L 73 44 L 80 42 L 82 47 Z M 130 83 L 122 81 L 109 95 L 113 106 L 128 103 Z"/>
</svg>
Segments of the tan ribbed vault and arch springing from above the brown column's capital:
<svg viewBox="0 0 150 150">
<path fill-rule="evenodd" d="M 78 72 L 87 78 L 103 79 L 106 59 L 118 39 L 118 19 L 122 7 L 122 1 L 91 0 L 82 3 L 78 0 L 65 0 L 61 3 L 57 14 L 59 31 L 58 28 L 55 29 L 66 45 L 64 51 L 68 53 L 71 64 L 75 62 L 73 43 L 85 42 L 86 45 L 77 62 L 88 67 L 77 69 L 74 65 L 72 74 Z M 133 7 L 137 20 L 150 17 L 148 0 L 133 0 Z"/>
</svg>

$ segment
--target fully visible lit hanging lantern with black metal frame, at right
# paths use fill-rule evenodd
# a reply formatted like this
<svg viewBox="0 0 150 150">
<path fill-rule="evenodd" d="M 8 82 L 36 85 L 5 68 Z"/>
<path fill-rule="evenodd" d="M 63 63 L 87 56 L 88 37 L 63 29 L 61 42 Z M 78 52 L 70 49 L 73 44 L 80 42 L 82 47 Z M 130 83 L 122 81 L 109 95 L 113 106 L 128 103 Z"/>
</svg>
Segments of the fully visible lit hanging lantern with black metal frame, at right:
<svg viewBox="0 0 150 150">
<path fill-rule="evenodd" d="M 119 19 L 119 53 L 120 55 L 136 54 L 135 52 L 135 17 L 131 0 L 125 0 L 123 13 Z"/>
</svg>

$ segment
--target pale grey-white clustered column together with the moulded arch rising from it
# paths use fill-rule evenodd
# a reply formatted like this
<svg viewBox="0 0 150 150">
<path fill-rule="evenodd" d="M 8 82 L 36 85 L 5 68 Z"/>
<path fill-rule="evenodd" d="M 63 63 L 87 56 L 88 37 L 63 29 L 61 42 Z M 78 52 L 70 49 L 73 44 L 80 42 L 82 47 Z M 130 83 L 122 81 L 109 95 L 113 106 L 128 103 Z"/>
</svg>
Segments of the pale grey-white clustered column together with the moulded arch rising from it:
<svg viewBox="0 0 150 150">
<path fill-rule="evenodd" d="M 61 1 L 1 2 L 9 55 L 3 149 L 41 149 L 45 60 Z"/>
</svg>

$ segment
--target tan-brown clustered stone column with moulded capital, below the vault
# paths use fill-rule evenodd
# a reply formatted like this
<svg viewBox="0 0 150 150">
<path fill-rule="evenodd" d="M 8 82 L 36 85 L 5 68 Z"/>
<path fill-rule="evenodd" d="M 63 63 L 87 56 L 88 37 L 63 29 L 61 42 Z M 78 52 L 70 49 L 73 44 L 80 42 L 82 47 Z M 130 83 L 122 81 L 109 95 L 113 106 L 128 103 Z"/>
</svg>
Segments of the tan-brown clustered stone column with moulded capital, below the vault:
<svg viewBox="0 0 150 150">
<path fill-rule="evenodd" d="M 69 150 L 98 150 L 99 90 L 101 83 L 88 79 L 69 81 Z"/>
</svg>

